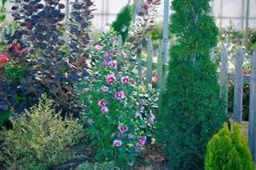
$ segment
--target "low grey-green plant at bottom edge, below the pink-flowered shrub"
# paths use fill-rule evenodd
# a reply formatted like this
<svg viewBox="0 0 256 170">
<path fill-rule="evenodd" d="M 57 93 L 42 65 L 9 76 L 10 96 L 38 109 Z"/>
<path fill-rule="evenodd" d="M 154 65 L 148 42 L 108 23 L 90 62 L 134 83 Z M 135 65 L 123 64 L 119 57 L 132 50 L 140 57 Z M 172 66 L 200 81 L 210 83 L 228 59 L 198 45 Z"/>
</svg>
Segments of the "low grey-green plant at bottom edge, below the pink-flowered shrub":
<svg viewBox="0 0 256 170">
<path fill-rule="evenodd" d="M 76 170 L 118 170 L 118 169 L 119 168 L 115 167 L 114 162 L 107 162 L 103 164 L 86 163 L 86 164 L 81 164 L 79 165 L 78 168 L 76 168 Z"/>
</svg>

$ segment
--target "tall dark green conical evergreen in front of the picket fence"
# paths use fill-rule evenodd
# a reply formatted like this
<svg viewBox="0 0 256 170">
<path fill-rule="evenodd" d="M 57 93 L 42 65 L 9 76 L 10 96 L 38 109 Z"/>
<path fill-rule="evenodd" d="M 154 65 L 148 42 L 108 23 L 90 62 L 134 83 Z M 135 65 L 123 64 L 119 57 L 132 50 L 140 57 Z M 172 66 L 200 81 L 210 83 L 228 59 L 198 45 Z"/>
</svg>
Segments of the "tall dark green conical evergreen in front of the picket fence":
<svg viewBox="0 0 256 170">
<path fill-rule="evenodd" d="M 210 15 L 210 0 L 174 0 L 170 33 L 170 72 L 157 125 L 173 169 L 203 169 L 206 144 L 226 121 L 219 98 L 210 49 L 218 28 Z"/>
</svg>

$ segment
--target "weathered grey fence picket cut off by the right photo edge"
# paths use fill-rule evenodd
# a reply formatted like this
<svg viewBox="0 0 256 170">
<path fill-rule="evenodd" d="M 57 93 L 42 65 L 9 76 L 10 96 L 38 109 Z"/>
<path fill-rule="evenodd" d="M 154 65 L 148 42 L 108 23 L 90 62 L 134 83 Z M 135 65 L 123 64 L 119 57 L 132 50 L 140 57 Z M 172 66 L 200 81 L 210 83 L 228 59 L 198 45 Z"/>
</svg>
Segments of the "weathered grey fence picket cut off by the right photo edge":
<svg viewBox="0 0 256 170">
<path fill-rule="evenodd" d="M 256 50 L 251 57 L 252 69 L 250 73 L 250 111 L 248 142 L 251 155 L 256 161 Z"/>
</svg>

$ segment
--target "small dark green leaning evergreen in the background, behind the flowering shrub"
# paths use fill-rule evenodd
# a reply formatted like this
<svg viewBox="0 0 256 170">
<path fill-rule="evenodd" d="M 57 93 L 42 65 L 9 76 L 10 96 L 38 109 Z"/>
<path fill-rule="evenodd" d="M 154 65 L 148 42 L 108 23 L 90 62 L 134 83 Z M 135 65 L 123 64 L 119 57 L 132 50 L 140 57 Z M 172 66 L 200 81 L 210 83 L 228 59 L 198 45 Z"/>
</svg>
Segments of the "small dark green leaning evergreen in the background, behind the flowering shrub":
<svg viewBox="0 0 256 170">
<path fill-rule="evenodd" d="M 118 34 L 122 35 L 122 40 L 125 41 L 128 37 L 128 32 L 130 29 L 130 23 L 132 21 L 134 14 L 133 6 L 127 5 L 122 8 L 116 21 L 113 22 L 112 28 L 114 31 L 118 32 Z"/>
</svg>

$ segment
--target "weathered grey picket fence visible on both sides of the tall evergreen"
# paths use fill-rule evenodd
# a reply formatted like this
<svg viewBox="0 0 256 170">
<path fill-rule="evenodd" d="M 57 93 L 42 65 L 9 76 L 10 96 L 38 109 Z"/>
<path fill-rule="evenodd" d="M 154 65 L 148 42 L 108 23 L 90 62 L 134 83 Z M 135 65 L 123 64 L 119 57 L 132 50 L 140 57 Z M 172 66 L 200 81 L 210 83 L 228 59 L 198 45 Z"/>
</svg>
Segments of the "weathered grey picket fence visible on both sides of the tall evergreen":
<svg viewBox="0 0 256 170">
<path fill-rule="evenodd" d="M 120 38 L 119 38 L 120 39 Z M 146 85 L 151 84 L 153 73 L 158 74 L 157 88 L 162 90 L 166 85 L 166 75 L 168 71 L 168 63 L 163 59 L 162 45 L 158 48 L 158 60 L 153 61 L 153 45 L 148 39 L 146 46 L 146 59 L 138 56 L 138 74 L 140 81 L 144 80 L 142 69 L 146 69 Z M 219 74 L 220 97 L 225 102 L 226 114 L 228 100 L 234 100 L 233 119 L 238 123 L 242 123 L 242 93 L 243 85 L 250 84 L 250 113 L 249 113 L 249 130 L 248 142 L 254 161 L 256 162 L 256 49 L 251 56 L 252 69 L 250 75 L 244 75 L 242 71 L 242 63 L 244 57 L 243 49 L 238 49 L 235 60 L 235 73 L 228 73 L 228 52 L 227 47 L 222 47 L 221 65 Z M 214 55 L 212 53 L 211 55 Z M 211 56 L 213 58 L 214 56 Z M 228 81 L 234 82 L 234 99 L 228 99 Z"/>
</svg>

